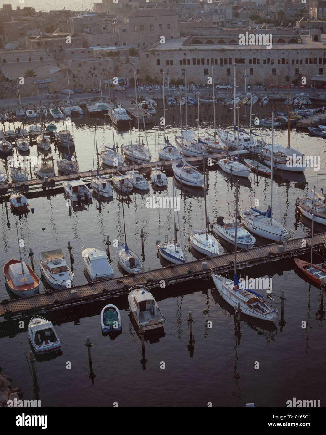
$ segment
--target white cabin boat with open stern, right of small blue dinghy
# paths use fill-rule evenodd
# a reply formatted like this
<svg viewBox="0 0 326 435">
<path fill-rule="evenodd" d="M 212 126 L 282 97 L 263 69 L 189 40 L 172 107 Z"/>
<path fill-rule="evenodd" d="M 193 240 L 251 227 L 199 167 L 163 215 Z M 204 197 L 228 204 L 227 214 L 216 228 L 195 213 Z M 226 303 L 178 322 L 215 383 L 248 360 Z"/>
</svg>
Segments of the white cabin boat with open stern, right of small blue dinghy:
<svg viewBox="0 0 326 435">
<path fill-rule="evenodd" d="M 143 331 L 163 327 L 163 314 L 148 288 L 145 286 L 130 288 L 128 303 L 129 311 L 133 315 L 136 324 L 143 327 Z"/>
</svg>

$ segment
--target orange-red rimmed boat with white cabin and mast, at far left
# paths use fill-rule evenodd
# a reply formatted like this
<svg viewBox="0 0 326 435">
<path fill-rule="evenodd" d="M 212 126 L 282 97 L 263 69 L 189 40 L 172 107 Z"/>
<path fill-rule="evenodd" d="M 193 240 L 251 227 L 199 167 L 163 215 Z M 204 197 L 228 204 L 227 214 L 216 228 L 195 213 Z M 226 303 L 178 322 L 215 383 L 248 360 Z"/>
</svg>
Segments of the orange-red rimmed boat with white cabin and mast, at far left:
<svg viewBox="0 0 326 435">
<path fill-rule="evenodd" d="M 37 293 L 40 287 L 40 280 L 37 275 L 31 269 L 31 267 L 25 263 L 21 258 L 20 251 L 20 239 L 18 236 L 18 225 L 16 222 L 16 231 L 18 238 L 18 248 L 20 260 L 9 260 L 3 267 L 3 274 L 6 277 L 6 282 L 10 290 L 16 294 L 16 296 L 31 296 Z"/>
</svg>

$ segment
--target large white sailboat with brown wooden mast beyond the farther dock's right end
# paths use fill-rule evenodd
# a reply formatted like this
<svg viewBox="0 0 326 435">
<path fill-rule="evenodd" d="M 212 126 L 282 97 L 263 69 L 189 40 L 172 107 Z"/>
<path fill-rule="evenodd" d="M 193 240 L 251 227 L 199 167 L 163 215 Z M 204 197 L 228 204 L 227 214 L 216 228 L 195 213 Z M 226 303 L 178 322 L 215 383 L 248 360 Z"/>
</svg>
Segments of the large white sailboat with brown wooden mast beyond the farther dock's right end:
<svg viewBox="0 0 326 435">
<path fill-rule="evenodd" d="M 289 87 L 288 98 L 289 98 Z M 289 121 L 289 105 L 288 105 L 288 146 L 286 148 L 281 145 L 265 144 L 258 152 L 259 157 L 269 167 L 282 169 L 282 171 L 299 172 L 306 170 L 306 162 L 303 161 L 303 154 L 300 151 L 290 148 L 290 121 Z M 272 121 L 273 124 L 273 121 Z M 274 127 L 274 126 L 272 126 Z M 272 165 L 272 154 L 274 154 Z M 289 164 L 289 162 L 291 164 Z"/>
</svg>

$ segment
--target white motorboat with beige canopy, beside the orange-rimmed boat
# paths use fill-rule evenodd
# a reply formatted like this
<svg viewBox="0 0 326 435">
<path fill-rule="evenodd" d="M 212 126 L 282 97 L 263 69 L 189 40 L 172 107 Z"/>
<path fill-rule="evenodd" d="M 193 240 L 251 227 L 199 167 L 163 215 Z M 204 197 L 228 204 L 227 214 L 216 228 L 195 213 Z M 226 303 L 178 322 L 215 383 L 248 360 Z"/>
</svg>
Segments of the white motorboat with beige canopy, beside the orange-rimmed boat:
<svg viewBox="0 0 326 435">
<path fill-rule="evenodd" d="M 41 256 L 43 258 L 39 262 L 41 275 L 47 284 L 55 290 L 70 288 L 74 281 L 74 272 L 68 268 L 61 249 L 41 252 Z"/>
</svg>

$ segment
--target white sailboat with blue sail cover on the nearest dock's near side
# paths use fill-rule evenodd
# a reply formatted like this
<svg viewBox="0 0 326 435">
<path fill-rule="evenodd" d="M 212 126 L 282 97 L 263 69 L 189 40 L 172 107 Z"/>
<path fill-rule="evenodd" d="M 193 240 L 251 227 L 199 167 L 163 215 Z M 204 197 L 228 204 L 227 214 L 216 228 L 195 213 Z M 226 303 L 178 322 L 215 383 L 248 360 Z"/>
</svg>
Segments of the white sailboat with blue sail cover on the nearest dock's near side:
<svg viewBox="0 0 326 435">
<path fill-rule="evenodd" d="M 237 182 L 238 191 L 238 182 Z M 234 237 L 234 279 L 223 277 L 216 272 L 212 272 L 214 284 L 224 301 L 228 302 L 234 307 L 238 308 L 240 303 L 241 312 L 251 317 L 262 320 L 275 320 L 277 318 L 277 310 L 270 308 L 264 301 L 261 294 L 256 293 L 245 285 L 241 284 L 236 274 L 237 270 L 237 226 L 235 227 Z"/>
</svg>

